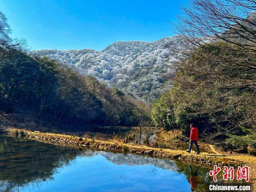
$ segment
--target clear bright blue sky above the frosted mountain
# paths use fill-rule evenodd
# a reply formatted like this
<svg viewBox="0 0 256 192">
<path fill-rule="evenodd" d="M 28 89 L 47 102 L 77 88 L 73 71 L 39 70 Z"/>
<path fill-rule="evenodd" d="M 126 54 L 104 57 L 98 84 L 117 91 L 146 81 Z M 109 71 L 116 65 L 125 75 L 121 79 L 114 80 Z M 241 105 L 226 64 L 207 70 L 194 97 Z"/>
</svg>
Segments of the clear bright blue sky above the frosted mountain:
<svg viewBox="0 0 256 192">
<path fill-rule="evenodd" d="M 115 41 L 155 41 L 173 35 L 187 0 L 0 0 L 11 37 L 33 49 L 102 50 Z"/>
</svg>

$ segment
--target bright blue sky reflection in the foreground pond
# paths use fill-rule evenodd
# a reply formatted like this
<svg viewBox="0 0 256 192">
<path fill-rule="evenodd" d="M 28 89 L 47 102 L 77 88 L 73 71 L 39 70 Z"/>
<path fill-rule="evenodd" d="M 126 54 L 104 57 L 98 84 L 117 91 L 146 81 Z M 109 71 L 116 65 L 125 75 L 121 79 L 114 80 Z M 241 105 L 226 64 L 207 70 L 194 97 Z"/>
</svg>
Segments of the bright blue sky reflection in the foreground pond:
<svg viewBox="0 0 256 192">
<path fill-rule="evenodd" d="M 77 157 L 69 166 L 57 169 L 53 180 L 27 185 L 20 191 L 189 191 L 190 184 L 184 174 L 159 167 L 150 172 L 153 169 L 154 165 L 117 165 L 102 155 Z"/>
</svg>

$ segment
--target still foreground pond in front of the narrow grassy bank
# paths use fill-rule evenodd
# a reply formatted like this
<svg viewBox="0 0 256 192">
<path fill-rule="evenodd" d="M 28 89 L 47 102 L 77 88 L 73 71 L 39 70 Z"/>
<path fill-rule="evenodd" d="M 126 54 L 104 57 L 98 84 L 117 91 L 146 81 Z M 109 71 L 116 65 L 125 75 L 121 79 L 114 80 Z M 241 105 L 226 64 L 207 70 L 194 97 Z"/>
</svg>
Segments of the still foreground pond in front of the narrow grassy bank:
<svg viewBox="0 0 256 192">
<path fill-rule="evenodd" d="M 207 173 L 200 166 L 168 159 L 0 135 L 0 191 L 207 191 L 212 182 Z"/>
</svg>

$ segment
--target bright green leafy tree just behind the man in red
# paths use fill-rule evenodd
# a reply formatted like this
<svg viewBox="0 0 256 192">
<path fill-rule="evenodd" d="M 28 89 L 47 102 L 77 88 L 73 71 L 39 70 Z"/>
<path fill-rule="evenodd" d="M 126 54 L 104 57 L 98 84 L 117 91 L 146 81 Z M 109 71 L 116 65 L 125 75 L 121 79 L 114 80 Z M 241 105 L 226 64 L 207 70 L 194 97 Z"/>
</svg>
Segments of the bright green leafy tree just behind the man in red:
<svg viewBox="0 0 256 192">
<path fill-rule="evenodd" d="M 161 95 L 153 103 L 151 110 L 151 118 L 157 127 L 163 127 L 167 131 L 171 129 L 181 129 L 181 131 L 188 135 L 189 125 L 194 123 L 200 129 L 207 127 L 210 129 L 210 120 L 205 114 L 196 114 L 195 110 L 184 102 L 184 98 L 189 99 L 195 95 L 182 93 L 178 90 L 178 86 L 174 83 L 172 90 Z"/>
</svg>

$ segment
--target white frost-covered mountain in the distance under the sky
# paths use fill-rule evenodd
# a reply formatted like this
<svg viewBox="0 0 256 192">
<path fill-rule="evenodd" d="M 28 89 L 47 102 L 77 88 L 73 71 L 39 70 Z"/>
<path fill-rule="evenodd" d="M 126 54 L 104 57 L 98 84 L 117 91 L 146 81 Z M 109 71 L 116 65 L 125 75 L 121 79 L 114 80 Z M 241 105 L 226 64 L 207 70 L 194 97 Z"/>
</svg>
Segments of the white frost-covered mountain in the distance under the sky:
<svg viewBox="0 0 256 192">
<path fill-rule="evenodd" d="M 43 56 L 56 59 L 82 74 L 95 75 L 101 82 L 118 87 L 147 100 L 162 93 L 166 63 L 176 62 L 166 44 L 179 46 L 180 36 L 153 42 L 117 41 L 102 51 L 39 50 Z"/>
</svg>

